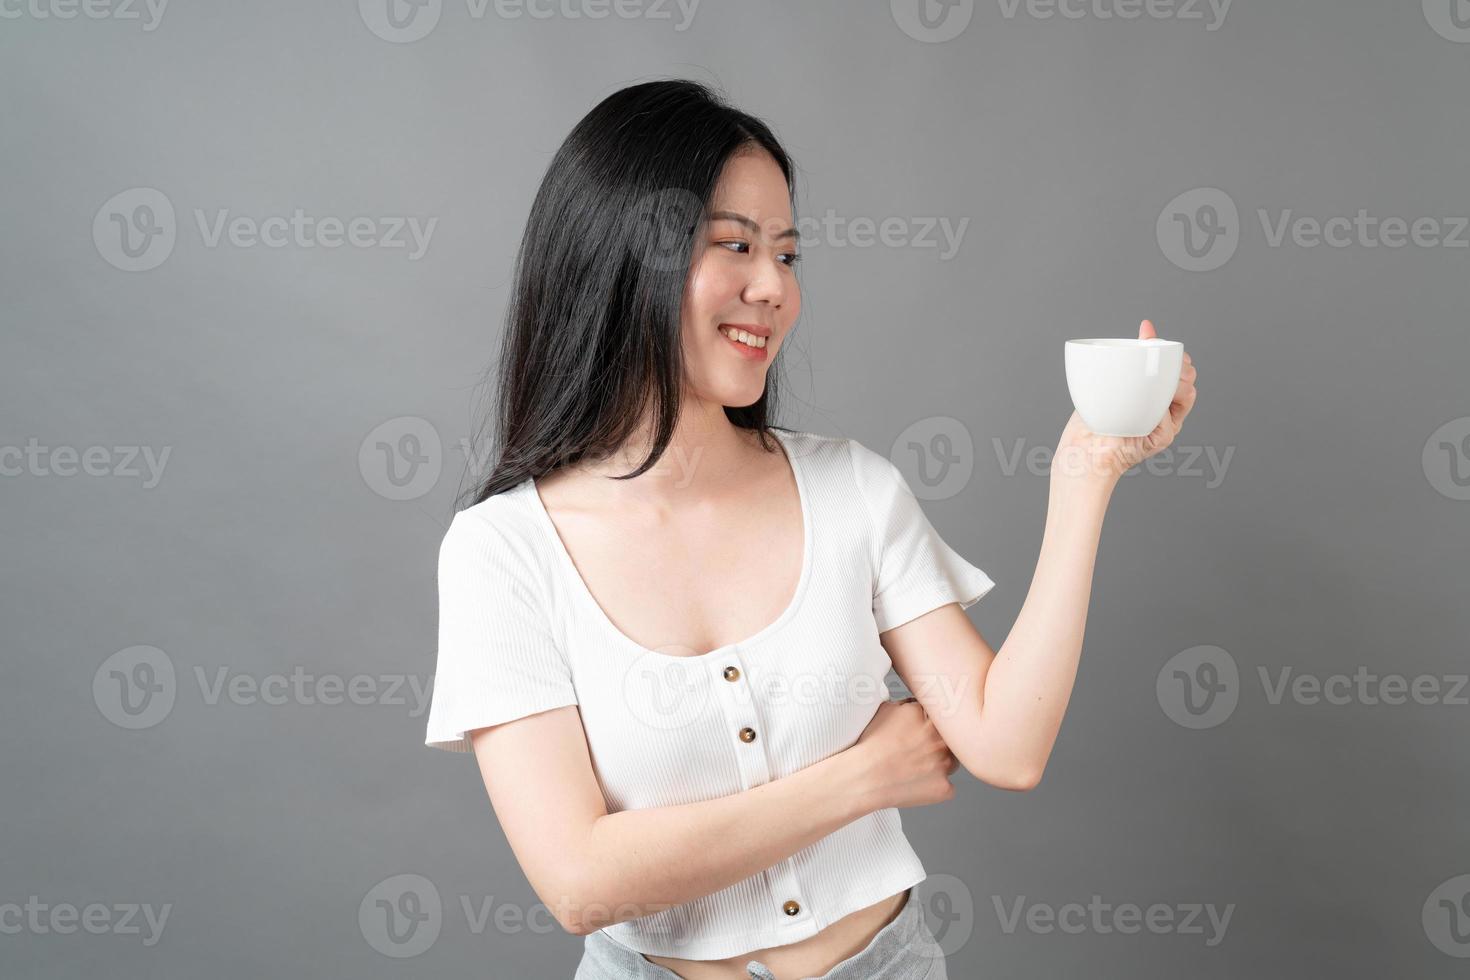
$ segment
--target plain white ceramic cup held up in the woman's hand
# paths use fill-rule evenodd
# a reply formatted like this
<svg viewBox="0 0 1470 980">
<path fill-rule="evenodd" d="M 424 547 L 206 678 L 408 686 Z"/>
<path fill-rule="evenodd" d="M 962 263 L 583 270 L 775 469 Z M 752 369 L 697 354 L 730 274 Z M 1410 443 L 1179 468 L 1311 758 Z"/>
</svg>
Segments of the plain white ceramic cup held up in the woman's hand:
<svg viewBox="0 0 1470 980">
<path fill-rule="evenodd" d="M 1148 435 L 1169 411 L 1183 370 L 1185 345 L 1148 339 L 1067 341 L 1067 391 L 1098 435 Z"/>
</svg>

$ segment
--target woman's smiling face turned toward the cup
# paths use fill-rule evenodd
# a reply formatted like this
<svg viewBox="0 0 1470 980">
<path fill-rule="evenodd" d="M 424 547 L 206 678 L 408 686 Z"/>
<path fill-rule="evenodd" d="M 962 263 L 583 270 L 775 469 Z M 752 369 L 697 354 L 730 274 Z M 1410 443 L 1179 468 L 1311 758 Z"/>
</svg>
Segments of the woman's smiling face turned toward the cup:
<svg viewBox="0 0 1470 980">
<path fill-rule="evenodd" d="M 764 150 L 731 157 L 684 287 L 685 383 L 694 397 L 729 407 L 760 400 L 801 311 L 797 253 L 781 167 Z"/>
</svg>

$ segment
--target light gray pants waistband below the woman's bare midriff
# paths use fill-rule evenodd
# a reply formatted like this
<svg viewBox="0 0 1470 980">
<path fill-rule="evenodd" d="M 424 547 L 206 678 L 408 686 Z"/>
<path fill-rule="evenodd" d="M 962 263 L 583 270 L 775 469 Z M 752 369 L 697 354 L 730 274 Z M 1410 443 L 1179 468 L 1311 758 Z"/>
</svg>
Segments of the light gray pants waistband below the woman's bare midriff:
<svg viewBox="0 0 1470 980">
<path fill-rule="evenodd" d="M 766 964 L 751 959 L 745 964 L 751 980 L 776 980 Z M 601 932 L 584 940 L 582 962 L 573 980 L 678 980 L 676 973 L 648 961 L 637 949 L 629 949 Z M 894 921 L 883 926 L 873 940 L 857 954 L 823 973 L 801 980 L 948 980 L 944 949 L 939 948 L 919 905 L 919 889 L 908 889 Z M 781 980 L 798 980 L 781 977 Z"/>
</svg>

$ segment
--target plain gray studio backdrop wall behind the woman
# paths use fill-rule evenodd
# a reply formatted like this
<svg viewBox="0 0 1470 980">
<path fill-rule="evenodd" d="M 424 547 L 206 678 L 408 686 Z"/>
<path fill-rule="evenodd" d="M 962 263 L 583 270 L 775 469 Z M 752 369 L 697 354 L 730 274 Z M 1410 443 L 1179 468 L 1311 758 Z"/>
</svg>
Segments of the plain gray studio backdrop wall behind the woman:
<svg viewBox="0 0 1470 980">
<path fill-rule="evenodd" d="M 669 75 L 775 126 L 800 216 L 910 229 L 867 247 L 808 232 L 781 422 L 891 453 L 916 489 L 913 436 L 961 433 L 926 511 L 998 583 L 972 608 L 992 645 L 1047 504 L 1044 466 L 1003 457 L 1055 445 L 1064 339 L 1152 319 L 1200 367 L 1176 447 L 1232 453 L 1223 479 L 1179 454 L 1120 483 L 1042 785 L 961 771 L 953 802 L 904 811 L 922 893 L 961 909 L 932 918 L 950 976 L 1464 976 L 1441 899 L 1470 873 L 1470 708 L 1444 696 L 1470 633 L 1451 469 L 1470 444 L 1438 444 L 1470 432 L 1470 250 L 1273 247 L 1258 217 L 1470 213 L 1470 29 L 1448 0 L 1444 32 L 1435 0 L 1238 0 L 1216 29 L 1204 6 L 991 1 L 951 10 L 970 21 L 942 41 L 903 29 L 908 1 L 706 0 L 678 29 L 676 7 L 476 18 L 447 0 L 413 43 L 375 34 L 372 3 L 176 3 L 154 29 L 37 4 L 0 21 L 0 451 L 53 454 L 10 453 L 0 478 L 0 905 L 101 904 L 112 926 L 0 917 L 0 976 L 570 976 L 581 939 L 545 915 L 497 926 L 537 898 L 470 757 L 425 748 L 404 692 L 432 673 L 435 555 L 537 184 L 592 104 Z M 143 272 L 91 234 L 132 188 L 176 213 Z M 1157 234 L 1197 188 L 1239 209 L 1207 272 Z M 298 207 L 438 223 L 410 260 L 210 247 L 196 219 Z M 1202 217 L 1189 198 L 1173 213 Z M 957 254 L 911 241 L 923 217 L 970 220 Z M 419 467 L 395 463 L 425 476 L 400 489 L 376 447 L 426 432 Z M 62 475 L 90 447 L 110 461 Z M 157 485 L 118 447 L 168 450 Z M 1202 645 L 1236 666 L 1235 708 L 1189 727 L 1166 666 Z M 110 679 L 135 646 L 160 651 L 173 704 L 129 729 Z M 1360 667 L 1442 693 L 1273 704 L 1260 676 Z M 210 702 L 220 670 L 372 693 Z M 415 956 L 373 945 L 385 890 L 426 895 L 403 874 L 442 902 Z M 1233 911 L 1214 945 L 1208 926 L 1007 932 L 997 911 L 1094 895 Z M 462 898 L 492 911 L 484 929 Z M 121 927 L 128 904 L 171 905 L 156 943 Z"/>
</svg>

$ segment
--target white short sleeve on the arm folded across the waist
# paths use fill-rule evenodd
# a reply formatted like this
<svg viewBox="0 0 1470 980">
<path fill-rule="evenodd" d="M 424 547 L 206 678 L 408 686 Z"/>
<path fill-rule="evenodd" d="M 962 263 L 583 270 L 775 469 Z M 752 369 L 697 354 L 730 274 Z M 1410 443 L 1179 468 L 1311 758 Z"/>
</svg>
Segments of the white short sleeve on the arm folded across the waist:
<svg viewBox="0 0 1470 980">
<path fill-rule="evenodd" d="M 425 745 L 470 752 L 469 732 L 576 704 L 541 589 L 516 545 L 460 511 L 440 544 L 440 649 Z"/>
</svg>

